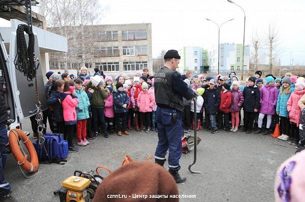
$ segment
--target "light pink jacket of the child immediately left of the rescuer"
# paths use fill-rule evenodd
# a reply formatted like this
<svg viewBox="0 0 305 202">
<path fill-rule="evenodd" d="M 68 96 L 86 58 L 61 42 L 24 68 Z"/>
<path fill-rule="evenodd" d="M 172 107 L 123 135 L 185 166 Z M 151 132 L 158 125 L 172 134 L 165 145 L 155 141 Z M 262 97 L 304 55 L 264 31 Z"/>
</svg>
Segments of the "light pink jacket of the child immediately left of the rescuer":
<svg viewBox="0 0 305 202">
<path fill-rule="evenodd" d="M 156 103 L 155 96 L 152 92 L 141 91 L 138 96 L 138 107 L 140 112 L 151 112 Z"/>
</svg>

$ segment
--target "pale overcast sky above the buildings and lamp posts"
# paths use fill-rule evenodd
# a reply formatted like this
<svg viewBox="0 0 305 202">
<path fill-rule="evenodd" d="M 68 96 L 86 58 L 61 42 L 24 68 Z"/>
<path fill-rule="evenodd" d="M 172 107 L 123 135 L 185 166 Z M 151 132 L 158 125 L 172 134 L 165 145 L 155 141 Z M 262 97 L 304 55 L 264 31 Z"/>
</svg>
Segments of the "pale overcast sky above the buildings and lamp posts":
<svg viewBox="0 0 305 202">
<path fill-rule="evenodd" d="M 305 0 L 234 2 L 246 12 L 245 45 L 251 44 L 256 31 L 265 39 L 268 25 L 275 24 L 279 31 L 281 64 L 289 65 L 292 53 L 293 64 L 305 65 Z M 100 3 L 108 10 L 99 24 L 151 23 L 153 57 L 162 49 L 217 45 L 218 27 L 205 18 L 219 24 L 234 18 L 221 27 L 220 42 L 242 44 L 243 12 L 226 0 L 100 0 Z M 0 20 L 0 25 L 8 24 Z"/>
</svg>

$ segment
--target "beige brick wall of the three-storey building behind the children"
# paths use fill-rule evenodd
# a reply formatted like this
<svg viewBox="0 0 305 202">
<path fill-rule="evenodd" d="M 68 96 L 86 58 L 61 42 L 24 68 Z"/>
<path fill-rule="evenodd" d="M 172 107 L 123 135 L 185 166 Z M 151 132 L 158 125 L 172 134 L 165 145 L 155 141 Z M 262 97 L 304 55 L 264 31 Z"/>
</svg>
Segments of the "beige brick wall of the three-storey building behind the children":
<svg viewBox="0 0 305 202">
<path fill-rule="evenodd" d="M 89 67 L 88 63 L 91 64 L 91 68 L 89 68 L 90 73 L 94 74 L 95 67 L 99 67 L 100 70 L 103 70 L 106 75 L 110 75 L 110 76 L 116 76 L 119 74 L 128 74 L 132 76 L 136 72 L 141 71 L 144 67 L 148 68 L 150 74 L 153 72 L 153 58 L 152 58 L 152 47 L 151 47 L 151 23 L 89 25 L 86 26 L 86 29 L 89 30 L 90 38 L 93 38 L 92 47 L 90 47 L 91 52 L 93 54 L 91 57 L 92 59 L 90 61 L 86 61 L 86 66 Z M 146 39 L 132 39 L 132 40 L 123 39 L 123 31 L 125 32 L 126 30 L 146 30 Z M 112 37 L 115 35 L 117 36 L 117 38 L 115 37 L 115 39 L 112 38 L 111 40 L 109 39 L 101 40 L 101 38 L 99 37 L 100 33 L 105 31 L 106 33 L 110 31 L 117 31 L 117 35 L 112 32 Z M 125 46 L 134 47 L 131 48 L 134 54 L 123 55 L 123 47 Z M 143 46 L 143 47 L 146 46 L 146 54 L 135 54 L 136 46 Z M 104 49 L 106 47 L 118 47 L 118 54 L 115 54 L 116 56 L 96 54 L 97 52 L 99 52 L 97 51 L 97 49 Z M 55 58 L 52 59 L 56 60 Z M 61 60 L 60 62 L 63 61 L 64 60 Z M 78 68 L 80 69 L 81 67 L 80 60 L 69 61 L 69 62 L 78 63 L 79 64 Z M 130 64 L 126 64 L 127 62 L 130 62 Z M 128 67 L 128 70 L 124 69 L 124 65 Z M 110 68 L 110 66 L 112 66 L 113 68 Z M 139 68 L 136 69 L 136 67 Z M 57 69 L 53 68 L 52 71 L 53 70 L 57 71 L 59 69 L 60 66 Z M 63 72 L 63 69 L 61 69 L 60 71 Z M 75 68 L 75 66 L 73 67 L 73 65 L 70 65 L 68 71 L 69 73 L 77 74 L 77 68 Z"/>
</svg>

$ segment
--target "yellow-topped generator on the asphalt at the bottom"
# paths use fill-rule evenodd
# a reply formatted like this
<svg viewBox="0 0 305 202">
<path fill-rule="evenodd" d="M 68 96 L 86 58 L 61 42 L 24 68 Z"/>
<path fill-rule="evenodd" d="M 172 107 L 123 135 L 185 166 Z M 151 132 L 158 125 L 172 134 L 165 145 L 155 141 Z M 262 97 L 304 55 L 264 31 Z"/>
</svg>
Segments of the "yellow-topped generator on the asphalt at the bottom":
<svg viewBox="0 0 305 202">
<path fill-rule="evenodd" d="M 67 178 L 54 194 L 59 195 L 60 202 L 90 202 L 102 180 L 98 175 L 75 171 L 74 176 Z"/>
</svg>

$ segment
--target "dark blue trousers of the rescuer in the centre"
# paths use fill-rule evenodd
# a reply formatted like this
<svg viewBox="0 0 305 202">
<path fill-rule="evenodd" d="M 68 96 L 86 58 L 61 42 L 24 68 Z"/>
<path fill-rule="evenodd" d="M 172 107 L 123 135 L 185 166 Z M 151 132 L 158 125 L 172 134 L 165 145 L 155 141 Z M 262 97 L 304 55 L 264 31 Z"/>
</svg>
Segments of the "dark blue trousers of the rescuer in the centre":
<svg viewBox="0 0 305 202">
<path fill-rule="evenodd" d="M 158 128 L 158 146 L 155 153 L 155 160 L 160 163 L 166 161 L 165 155 L 169 150 L 168 166 L 171 170 L 180 170 L 179 159 L 181 157 L 181 138 L 184 135 L 181 122 L 181 114 L 176 110 L 177 121 L 172 122 L 173 110 L 157 108 L 156 122 Z"/>
</svg>

